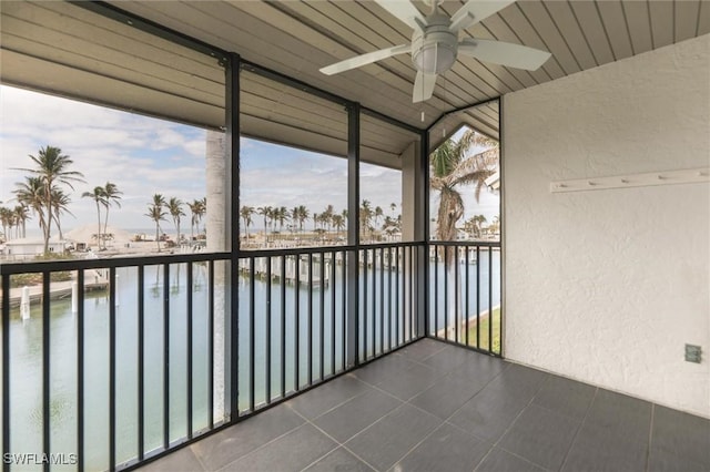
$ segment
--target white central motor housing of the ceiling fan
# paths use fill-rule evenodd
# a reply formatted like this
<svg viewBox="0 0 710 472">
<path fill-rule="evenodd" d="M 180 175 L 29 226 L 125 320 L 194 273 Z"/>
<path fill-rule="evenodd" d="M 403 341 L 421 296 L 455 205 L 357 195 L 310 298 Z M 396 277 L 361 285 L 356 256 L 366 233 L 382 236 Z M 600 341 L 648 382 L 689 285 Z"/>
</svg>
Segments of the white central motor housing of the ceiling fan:
<svg viewBox="0 0 710 472">
<path fill-rule="evenodd" d="M 458 34 L 449 30 L 450 20 L 442 14 L 427 17 L 426 25 L 412 37 L 412 62 L 425 74 L 439 74 L 456 62 Z"/>
</svg>

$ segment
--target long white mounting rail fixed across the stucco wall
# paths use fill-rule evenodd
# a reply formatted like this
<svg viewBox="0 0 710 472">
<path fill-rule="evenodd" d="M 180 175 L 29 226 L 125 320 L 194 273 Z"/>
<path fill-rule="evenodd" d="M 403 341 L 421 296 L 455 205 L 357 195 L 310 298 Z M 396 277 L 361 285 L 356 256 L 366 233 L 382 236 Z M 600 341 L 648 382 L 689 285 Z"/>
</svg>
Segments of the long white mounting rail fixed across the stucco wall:
<svg viewBox="0 0 710 472">
<path fill-rule="evenodd" d="M 680 171 L 649 172 L 613 177 L 576 178 L 550 183 L 551 193 L 586 192 L 611 188 L 646 187 L 651 185 L 696 184 L 710 182 L 710 167 Z"/>
</svg>

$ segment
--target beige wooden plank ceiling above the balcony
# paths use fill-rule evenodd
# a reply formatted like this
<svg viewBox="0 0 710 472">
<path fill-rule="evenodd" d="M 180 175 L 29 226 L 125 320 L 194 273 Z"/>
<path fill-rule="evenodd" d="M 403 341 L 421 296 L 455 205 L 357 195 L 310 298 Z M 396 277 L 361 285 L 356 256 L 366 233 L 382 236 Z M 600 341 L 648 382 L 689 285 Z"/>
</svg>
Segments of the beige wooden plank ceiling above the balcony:
<svg viewBox="0 0 710 472">
<path fill-rule="evenodd" d="M 434 125 L 433 143 L 462 124 L 498 136 L 496 103 L 459 109 L 710 32 L 707 0 L 518 1 L 462 35 L 550 51 L 542 68 L 527 72 L 459 58 L 439 78 L 434 96 L 413 104 L 415 69 L 408 54 L 333 76 L 318 72 L 342 59 L 409 42 L 409 28 L 372 1 L 110 4 L 412 126 Z M 427 11 L 424 3 L 415 4 Z M 452 14 L 462 4 L 447 0 L 442 8 Z M 224 73 L 215 58 L 65 2 L 2 1 L 0 10 L 3 83 L 223 125 Z M 244 134 L 342 155 L 342 107 L 252 75 L 243 80 Z M 413 135 L 389 133 L 387 140 L 373 131 L 382 123 L 368 119 L 365 125 L 372 162 L 396 167 L 393 157 Z"/>
</svg>

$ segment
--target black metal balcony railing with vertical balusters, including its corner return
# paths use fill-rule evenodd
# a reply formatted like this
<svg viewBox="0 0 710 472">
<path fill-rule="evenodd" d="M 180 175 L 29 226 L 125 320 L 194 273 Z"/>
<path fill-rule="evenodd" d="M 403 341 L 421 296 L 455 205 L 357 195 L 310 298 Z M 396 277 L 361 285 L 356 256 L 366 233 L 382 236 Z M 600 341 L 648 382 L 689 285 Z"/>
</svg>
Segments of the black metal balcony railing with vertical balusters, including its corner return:
<svg viewBox="0 0 710 472">
<path fill-rule="evenodd" d="M 400 243 L 2 265 L 2 452 L 125 469 L 427 335 L 500 355 L 499 261 Z"/>
</svg>

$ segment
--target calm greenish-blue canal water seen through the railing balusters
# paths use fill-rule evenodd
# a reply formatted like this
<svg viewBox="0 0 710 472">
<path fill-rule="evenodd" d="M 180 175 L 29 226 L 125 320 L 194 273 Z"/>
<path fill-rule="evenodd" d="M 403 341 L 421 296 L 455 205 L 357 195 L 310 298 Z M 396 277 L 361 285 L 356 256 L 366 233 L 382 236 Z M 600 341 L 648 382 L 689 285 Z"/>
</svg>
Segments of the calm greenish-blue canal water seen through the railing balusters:
<svg viewBox="0 0 710 472">
<path fill-rule="evenodd" d="M 480 307 L 488 307 L 487 254 L 478 260 L 480 267 Z M 493 253 L 493 294 L 491 305 L 500 302 L 500 257 Z M 215 263 L 219 264 L 219 263 Z M 439 264 L 440 266 L 440 264 Z M 464 265 L 462 265 L 462 270 Z M 476 265 L 470 265 L 471 279 L 468 289 L 477 289 L 475 280 Z M 314 274 L 318 266 L 315 265 Z M 282 299 L 280 281 L 254 280 L 252 287 L 247 277 L 240 277 L 239 285 L 239 374 L 240 409 L 248 409 L 252 403 L 266 400 L 266 359 L 271 357 L 271 398 L 281 394 L 282 387 L 288 392 L 296 388 L 296 367 L 298 386 L 305 386 L 308 377 L 320 378 L 323 370 L 327 377 L 339 371 L 343 362 L 343 270 L 336 266 L 336 278 L 324 287 L 295 287 L 287 285 Z M 443 267 L 430 265 L 432 274 Z M 275 273 L 277 274 L 277 273 Z M 136 268 L 116 269 L 116 460 L 128 461 L 138 451 L 138 362 L 139 362 L 139 287 Z M 385 339 L 384 346 L 393 346 L 403 340 L 402 331 L 408 322 L 402 318 L 382 320 L 383 314 L 396 312 L 404 307 L 405 276 L 375 270 L 366 277 L 361 276 L 361 349 L 367 357 L 378 350 L 365 339 Z M 463 284 L 464 281 L 462 281 Z M 209 424 L 209 280 L 206 266 L 193 265 L 193 284 L 187 287 L 186 266 L 171 266 L 168 284 L 163 279 L 162 266 L 146 266 L 144 274 L 144 435 L 145 450 L 158 449 L 163 439 L 163 369 L 164 369 L 164 305 L 170 306 L 169 350 L 170 350 L 170 438 L 171 441 L 187 434 L 186 389 L 187 389 L 187 291 L 192 290 L 192 394 L 193 430 Z M 377 297 L 384 293 L 399 294 L 385 297 L 371 310 L 373 290 Z M 465 286 L 459 286 L 465 290 Z M 215 298 L 224 296 L 224 287 L 215 285 Z M 367 293 L 365 304 L 364 293 Z M 271 299 L 268 294 L 271 293 Z M 253 294 L 253 299 L 252 299 Z M 434 294 L 434 289 L 430 289 Z M 109 299 L 108 294 L 87 294 L 84 299 L 84 464 L 87 470 L 108 469 L 109 456 Z M 438 290 L 439 300 L 446 296 Z M 296 304 L 297 298 L 297 304 Z M 433 296 L 432 296 L 433 298 Z M 475 297 L 473 298 L 475 300 Z M 252 304 L 253 300 L 253 304 Z M 335 305 L 333 305 L 333 302 Z M 434 302 L 434 301 L 433 301 Z M 285 307 L 282 314 L 282 304 Z M 296 306 L 298 309 L 296 310 Z M 443 306 L 443 305 L 442 305 Z M 333 307 L 335 308 L 333 310 Z M 475 309 L 475 305 L 473 307 Z M 271 316 L 267 312 L 271 311 Z M 466 312 L 475 316 L 469 307 Z M 253 314 L 254 325 L 251 325 Z M 366 314 L 366 315 L 365 315 Z M 285 324 L 282 324 L 285 315 Z M 51 302 L 50 314 L 50 414 L 51 449 L 54 453 L 75 453 L 77 447 L 77 342 L 78 315 L 72 314 L 71 301 Z M 367 317 L 367 328 L 363 318 Z M 11 387 L 11 450 L 13 453 L 39 453 L 42 449 L 42 321 L 41 306 L 31 307 L 30 319 L 22 320 L 19 309 L 10 312 L 10 387 Z M 297 335 L 296 336 L 296 327 Z M 443 328 L 443 319 L 439 320 Z M 399 339 L 397 338 L 399 329 Z M 267 332 L 271 331 L 271 338 Z M 252 334 L 254 337 L 252 338 Z M 321 334 L 324 342 L 321 345 Z M 335 336 L 332 336 L 335 334 Z M 268 342 L 271 340 L 271 342 Z M 282 348 L 282 341 L 284 347 Z M 297 342 L 296 342 L 297 341 Z M 253 343 L 252 343 L 253 342 Z M 296 348 L 297 345 L 297 348 Z M 267 351 L 267 349 L 270 349 Z M 283 349 L 283 352 L 282 352 Z M 296 363 L 296 350 L 298 362 Z M 253 360 L 252 360 L 253 352 Z M 323 352 L 323 357 L 321 357 Z M 282 355 L 285 359 L 282 369 Z M 253 367 L 253 372 L 252 372 Z M 285 386 L 282 386 L 282 374 Z M 251 398 L 250 378 L 254 379 L 254 398 Z M 216 420 L 216 419 L 215 419 Z M 14 468 L 13 468 L 14 469 Z M 40 470 L 40 466 L 19 466 L 19 470 Z M 73 465 L 58 466 L 73 470 Z"/>
</svg>

